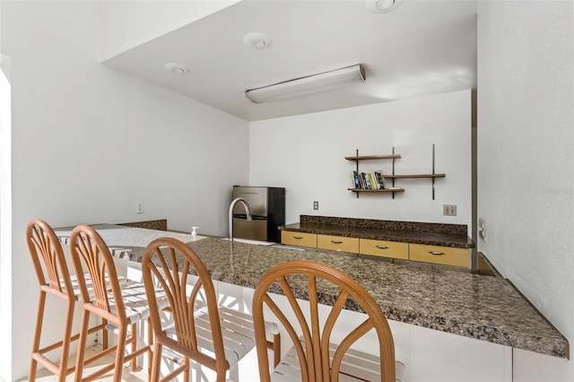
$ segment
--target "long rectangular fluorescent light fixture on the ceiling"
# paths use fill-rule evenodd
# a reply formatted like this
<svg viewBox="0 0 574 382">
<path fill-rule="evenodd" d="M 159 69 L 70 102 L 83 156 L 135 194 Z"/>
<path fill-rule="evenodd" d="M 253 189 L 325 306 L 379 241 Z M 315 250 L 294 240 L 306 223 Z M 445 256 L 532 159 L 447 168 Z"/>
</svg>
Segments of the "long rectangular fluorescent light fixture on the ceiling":
<svg viewBox="0 0 574 382">
<path fill-rule="evenodd" d="M 344 86 L 365 82 L 361 65 L 352 65 L 321 74 L 275 83 L 245 91 L 245 97 L 255 103 L 284 100 L 320 91 L 331 91 Z"/>
</svg>

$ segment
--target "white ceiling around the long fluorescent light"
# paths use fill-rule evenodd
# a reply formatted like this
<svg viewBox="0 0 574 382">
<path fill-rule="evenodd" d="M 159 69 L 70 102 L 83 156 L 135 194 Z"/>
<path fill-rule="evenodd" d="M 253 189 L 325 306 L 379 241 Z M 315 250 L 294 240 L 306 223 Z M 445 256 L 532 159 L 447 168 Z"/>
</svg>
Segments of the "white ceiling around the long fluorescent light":
<svg viewBox="0 0 574 382">
<path fill-rule="evenodd" d="M 244 0 L 113 56 L 104 64 L 249 121 L 472 89 L 476 0 L 404 0 L 370 13 L 364 0 Z M 248 48 L 249 32 L 273 39 Z M 176 62 L 189 73 L 164 68 Z M 344 90 L 252 103 L 247 89 L 361 64 Z"/>
</svg>

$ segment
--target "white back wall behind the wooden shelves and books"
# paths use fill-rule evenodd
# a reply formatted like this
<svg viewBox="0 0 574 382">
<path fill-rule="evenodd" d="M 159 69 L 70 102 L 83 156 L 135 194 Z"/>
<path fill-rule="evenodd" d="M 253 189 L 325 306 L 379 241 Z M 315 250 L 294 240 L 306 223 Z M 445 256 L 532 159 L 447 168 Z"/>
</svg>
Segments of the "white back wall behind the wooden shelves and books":
<svg viewBox="0 0 574 382">
<path fill-rule="evenodd" d="M 250 124 L 252 186 L 285 187 L 287 223 L 300 214 L 467 224 L 471 221 L 471 94 L 457 91 L 414 100 L 378 103 Z M 431 173 L 446 178 L 396 179 L 404 193 L 348 191 L 354 161 L 345 156 L 390 154 L 402 158 L 396 173 Z M 361 161 L 360 170 L 384 169 L 392 161 Z M 313 210 L 313 201 L 319 210 Z M 457 216 L 443 216 L 457 204 Z"/>
</svg>

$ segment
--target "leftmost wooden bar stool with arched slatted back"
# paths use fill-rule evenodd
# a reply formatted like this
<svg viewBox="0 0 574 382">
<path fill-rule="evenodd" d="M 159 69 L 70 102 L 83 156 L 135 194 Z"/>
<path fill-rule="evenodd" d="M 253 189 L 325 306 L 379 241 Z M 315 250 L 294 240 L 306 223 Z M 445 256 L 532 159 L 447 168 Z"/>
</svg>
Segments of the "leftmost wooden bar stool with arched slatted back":
<svg viewBox="0 0 574 382">
<path fill-rule="evenodd" d="M 62 245 L 46 221 L 31 220 L 26 228 L 26 240 L 39 282 L 38 313 L 32 343 L 29 380 L 36 379 L 39 363 L 57 376 L 58 381 L 65 381 L 65 377 L 73 373 L 75 369 L 74 365 L 68 367 L 70 344 L 77 341 L 80 336 L 80 334 L 72 334 L 74 307 L 80 298 L 77 278 L 70 274 Z M 90 280 L 87 281 L 87 284 L 90 284 Z M 40 347 L 44 310 L 48 296 L 65 301 L 64 334 L 62 341 Z M 92 334 L 99 330 L 104 334 L 107 333 L 104 325 L 93 326 L 87 333 Z M 47 353 L 57 349 L 60 350 L 58 363 L 49 360 L 46 356 Z"/>
</svg>

